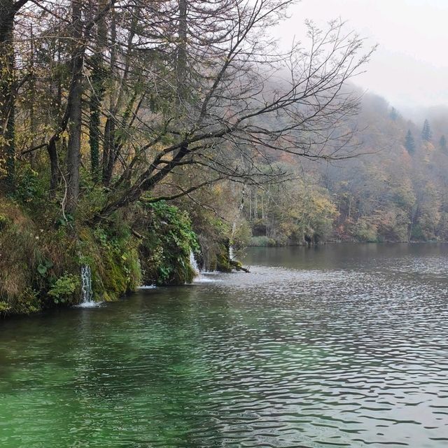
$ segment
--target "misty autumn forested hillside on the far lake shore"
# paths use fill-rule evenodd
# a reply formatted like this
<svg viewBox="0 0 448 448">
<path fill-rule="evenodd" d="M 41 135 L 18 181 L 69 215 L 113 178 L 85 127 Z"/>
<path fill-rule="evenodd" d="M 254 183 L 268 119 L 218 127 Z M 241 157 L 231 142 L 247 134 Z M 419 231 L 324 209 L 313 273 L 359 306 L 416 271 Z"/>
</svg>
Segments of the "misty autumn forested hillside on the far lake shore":
<svg viewBox="0 0 448 448">
<path fill-rule="evenodd" d="M 448 116 L 407 120 L 365 94 L 356 127 L 360 154 L 339 162 L 285 160 L 297 180 L 251 188 L 244 216 L 253 244 L 448 239 Z"/>
</svg>

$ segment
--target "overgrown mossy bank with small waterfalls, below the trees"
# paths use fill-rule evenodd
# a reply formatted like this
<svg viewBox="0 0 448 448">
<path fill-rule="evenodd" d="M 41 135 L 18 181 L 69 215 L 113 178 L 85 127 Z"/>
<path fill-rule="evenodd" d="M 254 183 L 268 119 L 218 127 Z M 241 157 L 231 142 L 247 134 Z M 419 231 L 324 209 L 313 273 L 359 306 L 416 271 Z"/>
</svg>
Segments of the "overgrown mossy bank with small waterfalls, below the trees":
<svg viewBox="0 0 448 448">
<path fill-rule="evenodd" d="M 142 284 L 189 283 L 191 253 L 204 265 L 200 254 L 207 250 L 207 269 L 232 269 L 225 235 L 201 248 L 207 235 L 197 235 L 186 211 L 165 202 L 138 204 L 97 225 L 85 216 L 59 216 L 57 204 L 43 210 L 0 198 L 3 316 L 113 301 Z M 81 271 L 88 272 L 87 292 Z"/>
</svg>

